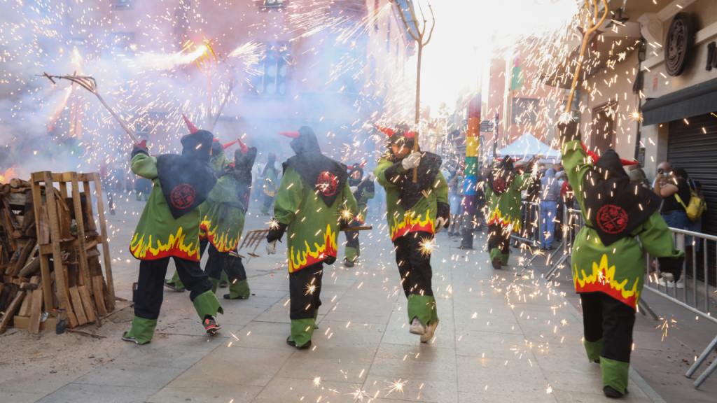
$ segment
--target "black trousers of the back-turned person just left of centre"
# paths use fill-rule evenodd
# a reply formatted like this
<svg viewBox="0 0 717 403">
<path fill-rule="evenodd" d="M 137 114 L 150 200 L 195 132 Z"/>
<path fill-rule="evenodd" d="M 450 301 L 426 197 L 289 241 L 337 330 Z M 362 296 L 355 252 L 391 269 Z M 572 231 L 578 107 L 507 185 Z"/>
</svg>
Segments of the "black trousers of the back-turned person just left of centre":
<svg viewBox="0 0 717 403">
<path fill-rule="evenodd" d="M 314 310 L 321 306 L 322 277 L 323 262 L 289 273 L 289 317 L 292 320 L 314 318 Z"/>
</svg>

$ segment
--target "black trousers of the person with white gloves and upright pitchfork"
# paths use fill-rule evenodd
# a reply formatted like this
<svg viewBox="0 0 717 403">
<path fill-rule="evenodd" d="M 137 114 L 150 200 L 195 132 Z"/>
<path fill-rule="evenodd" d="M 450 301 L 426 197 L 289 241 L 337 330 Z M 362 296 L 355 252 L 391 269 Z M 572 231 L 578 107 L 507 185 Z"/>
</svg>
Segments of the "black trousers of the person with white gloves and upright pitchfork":
<svg viewBox="0 0 717 403">
<path fill-rule="evenodd" d="M 394 241 L 396 262 L 406 298 L 410 294 L 433 296 L 431 255 L 425 253 L 420 245 L 421 242 L 432 239 L 433 234 L 420 231 L 410 232 Z"/>
</svg>

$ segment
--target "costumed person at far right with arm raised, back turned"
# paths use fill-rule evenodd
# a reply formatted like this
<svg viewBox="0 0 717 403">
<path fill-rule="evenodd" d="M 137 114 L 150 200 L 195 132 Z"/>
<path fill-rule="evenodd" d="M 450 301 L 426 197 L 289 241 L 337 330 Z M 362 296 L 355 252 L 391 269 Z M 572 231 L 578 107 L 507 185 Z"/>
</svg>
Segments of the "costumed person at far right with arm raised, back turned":
<svg viewBox="0 0 717 403">
<path fill-rule="evenodd" d="M 635 162 L 621 160 L 612 149 L 599 157 L 589 151 L 574 121 L 561 123 L 559 131 L 563 165 L 585 222 L 571 256 L 585 350 L 589 361 L 600 364 L 603 393 L 622 397 L 645 278 L 643 250 L 657 257 L 668 280 L 679 280 L 685 252 L 675 249 L 660 216 L 660 196 L 630 183 L 623 166 Z"/>
</svg>

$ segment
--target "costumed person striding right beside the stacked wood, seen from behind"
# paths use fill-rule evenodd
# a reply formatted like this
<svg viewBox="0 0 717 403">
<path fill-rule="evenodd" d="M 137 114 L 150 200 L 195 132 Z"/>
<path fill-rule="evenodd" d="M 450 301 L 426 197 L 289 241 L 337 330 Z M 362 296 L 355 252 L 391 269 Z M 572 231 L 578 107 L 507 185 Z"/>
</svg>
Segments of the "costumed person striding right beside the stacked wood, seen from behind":
<svg viewBox="0 0 717 403">
<path fill-rule="evenodd" d="M 146 141 L 136 144 L 132 151 L 132 171 L 151 179 L 153 189 L 130 242 L 130 253 L 140 265 L 135 316 L 132 328 L 122 336 L 125 341 L 151 341 L 170 258 L 206 333 L 214 334 L 220 328 L 214 317 L 224 311 L 199 265 L 199 204 L 217 183 L 209 166 L 213 138 L 208 131 L 191 131 L 181 138 L 181 155 L 150 156 Z"/>
</svg>

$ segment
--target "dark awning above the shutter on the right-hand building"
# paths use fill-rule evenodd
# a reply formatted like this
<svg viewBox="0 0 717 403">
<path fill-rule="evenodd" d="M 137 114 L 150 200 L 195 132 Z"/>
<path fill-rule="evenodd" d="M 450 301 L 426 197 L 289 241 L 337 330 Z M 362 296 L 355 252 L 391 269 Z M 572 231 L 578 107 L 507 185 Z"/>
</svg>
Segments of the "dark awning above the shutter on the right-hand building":
<svg viewBox="0 0 717 403">
<path fill-rule="evenodd" d="M 717 110 L 717 78 L 675 91 L 642 105 L 642 125 L 654 125 Z"/>
</svg>

